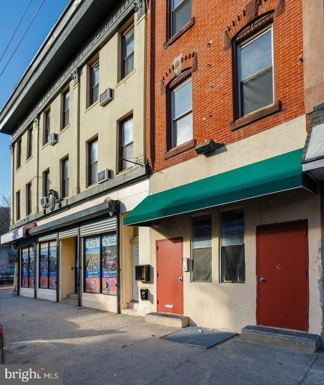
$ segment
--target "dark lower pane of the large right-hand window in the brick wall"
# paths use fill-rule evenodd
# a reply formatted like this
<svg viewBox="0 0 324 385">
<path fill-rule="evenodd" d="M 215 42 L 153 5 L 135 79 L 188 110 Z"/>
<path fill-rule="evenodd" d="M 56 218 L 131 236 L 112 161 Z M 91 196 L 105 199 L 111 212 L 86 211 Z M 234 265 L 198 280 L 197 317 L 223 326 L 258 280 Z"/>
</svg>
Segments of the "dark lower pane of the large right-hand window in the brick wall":
<svg viewBox="0 0 324 385">
<path fill-rule="evenodd" d="M 241 116 L 273 103 L 272 67 L 241 82 Z"/>
</svg>

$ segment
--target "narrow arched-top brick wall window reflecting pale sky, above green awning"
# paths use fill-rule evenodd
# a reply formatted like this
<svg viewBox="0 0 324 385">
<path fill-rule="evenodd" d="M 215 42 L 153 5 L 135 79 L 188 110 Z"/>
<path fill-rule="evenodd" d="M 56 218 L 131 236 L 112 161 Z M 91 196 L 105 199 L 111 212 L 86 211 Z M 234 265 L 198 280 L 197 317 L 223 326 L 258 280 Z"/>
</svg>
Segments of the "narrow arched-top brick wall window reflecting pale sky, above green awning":
<svg viewBox="0 0 324 385">
<path fill-rule="evenodd" d="M 171 90 L 171 146 L 174 148 L 192 139 L 191 78 Z"/>
</svg>

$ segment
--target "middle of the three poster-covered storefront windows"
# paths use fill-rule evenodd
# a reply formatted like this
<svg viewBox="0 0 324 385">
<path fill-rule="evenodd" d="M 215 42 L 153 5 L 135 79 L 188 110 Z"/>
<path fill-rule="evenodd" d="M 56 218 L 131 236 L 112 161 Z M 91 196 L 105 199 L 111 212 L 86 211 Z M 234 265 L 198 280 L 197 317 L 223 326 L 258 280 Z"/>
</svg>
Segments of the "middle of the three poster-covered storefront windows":
<svg viewBox="0 0 324 385">
<path fill-rule="evenodd" d="M 56 240 L 42 242 L 39 255 L 39 287 L 56 289 L 57 285 L 57 243 Z"/>
</svg>

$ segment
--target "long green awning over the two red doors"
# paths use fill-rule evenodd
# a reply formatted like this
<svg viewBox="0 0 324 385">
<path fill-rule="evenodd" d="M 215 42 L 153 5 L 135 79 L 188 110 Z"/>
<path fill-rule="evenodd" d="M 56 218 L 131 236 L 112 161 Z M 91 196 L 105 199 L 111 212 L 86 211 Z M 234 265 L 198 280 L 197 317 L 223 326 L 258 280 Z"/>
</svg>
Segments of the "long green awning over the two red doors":
<svg viewBox="0 0 324 385">
<path fill-rule="evenodd" d="M 302 152 L 295 150 L 149 195 L 124 218 L 124 225 L 145 226 L 159 218 L 296 188 L 316 192 L 316 183 L 302 171 Z"/>
</svg>

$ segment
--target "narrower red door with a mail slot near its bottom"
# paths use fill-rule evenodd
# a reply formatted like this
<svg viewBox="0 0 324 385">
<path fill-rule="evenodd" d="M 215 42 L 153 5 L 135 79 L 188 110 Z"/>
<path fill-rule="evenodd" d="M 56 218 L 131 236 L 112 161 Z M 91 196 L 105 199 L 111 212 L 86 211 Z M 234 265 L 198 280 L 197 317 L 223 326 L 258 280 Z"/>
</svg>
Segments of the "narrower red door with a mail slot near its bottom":
<svg viewBox="0 0 324 385">
<path fill-rule="evenodd" d="M 156 241 L 157 311 L 183 314 L 182 238 Z"/>
</svg>

